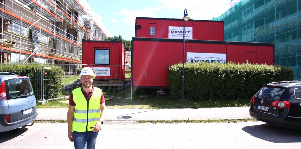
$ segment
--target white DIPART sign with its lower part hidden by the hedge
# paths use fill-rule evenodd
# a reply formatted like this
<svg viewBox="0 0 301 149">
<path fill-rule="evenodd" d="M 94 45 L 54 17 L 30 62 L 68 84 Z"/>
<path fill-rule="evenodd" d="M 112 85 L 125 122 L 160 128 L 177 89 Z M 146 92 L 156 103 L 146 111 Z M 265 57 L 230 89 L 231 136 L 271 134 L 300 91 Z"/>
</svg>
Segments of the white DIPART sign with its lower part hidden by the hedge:
<svg viewBox="0 0 301 149">
<path fill-rule="evenodd" d="M 186 62 L 218 62 L 226 63 L 227 55 L 224 53 L 193 53 L 187 52 Z"/>
</svg>

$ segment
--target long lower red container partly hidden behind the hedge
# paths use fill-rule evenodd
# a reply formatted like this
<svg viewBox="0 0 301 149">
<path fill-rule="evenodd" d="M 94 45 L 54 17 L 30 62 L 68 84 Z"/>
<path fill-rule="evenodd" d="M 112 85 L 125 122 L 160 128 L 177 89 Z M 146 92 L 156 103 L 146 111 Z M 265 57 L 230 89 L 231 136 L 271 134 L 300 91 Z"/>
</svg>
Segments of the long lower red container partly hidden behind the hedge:
<svg viewBox="0 0 301 149">
<path fill-rule="evenodd" d="M 194 56 L 196 53 L 197 56 Z M 186 40 L 185 60 L 225 56 L 220 62 L 274 63 L 273 43 Z M 187 56 L 189 57 L 187 58 Z M 203 56 L 205 55 L 205 56 Z M 132 86 L 167 88 L 168 67 L 183 59 L 183 39 L 132 38 Z M 221 58 L 222 59 L 222 58 Z M 208 62 L 211 62 L 210 60 Z"/>
</svg>

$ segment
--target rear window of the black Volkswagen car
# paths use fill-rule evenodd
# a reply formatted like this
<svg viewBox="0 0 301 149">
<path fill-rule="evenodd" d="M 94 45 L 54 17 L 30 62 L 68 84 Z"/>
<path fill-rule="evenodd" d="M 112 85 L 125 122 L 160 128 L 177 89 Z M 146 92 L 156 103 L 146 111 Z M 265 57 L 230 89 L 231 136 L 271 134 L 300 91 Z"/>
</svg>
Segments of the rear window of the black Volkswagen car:
<svg viewBox="0 0 301 149">
<path fill-rule="evenodd" d="M 284 88 L 262 87 L 261 90 L 259 90 L 259 92 L 256 94 L 256 96 L 261 98 L 279 100 L 284 90 Z"/>
</svg>

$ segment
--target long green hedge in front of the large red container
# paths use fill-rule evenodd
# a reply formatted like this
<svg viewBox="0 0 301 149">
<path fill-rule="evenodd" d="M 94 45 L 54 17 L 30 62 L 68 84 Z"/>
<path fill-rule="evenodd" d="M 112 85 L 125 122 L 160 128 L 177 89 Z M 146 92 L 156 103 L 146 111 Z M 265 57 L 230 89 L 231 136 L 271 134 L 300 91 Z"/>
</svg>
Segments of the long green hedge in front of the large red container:
<svg viewBox="0 0 301 149">
<path fill-rule="evenodd" d="M 291 81 L 293 70 L 275 65 L 186 63 L 184 96 L 189 100 L 251 98 L 264 84 Z M 182 63 L 171 65 L 169 90 L 173 98 L 181 98 Z"/>
</svg>

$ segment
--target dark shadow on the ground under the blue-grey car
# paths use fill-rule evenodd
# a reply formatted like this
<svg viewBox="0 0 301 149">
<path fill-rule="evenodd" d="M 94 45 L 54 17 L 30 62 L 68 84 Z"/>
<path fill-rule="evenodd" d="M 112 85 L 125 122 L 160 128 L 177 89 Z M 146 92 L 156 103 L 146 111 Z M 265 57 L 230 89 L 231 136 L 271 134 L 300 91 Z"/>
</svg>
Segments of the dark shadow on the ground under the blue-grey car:
<svg viewBox="0 0 301 149">
<path fill-rule="evenodd" d="M 19 135 L 22 135 L 27 130 L 28 130 L 27 128 L 17 128 L 17 129 L 7 131 L 7 132 L 1 132 L 0 133 L 0 144 L 3 142 L 6 142 L 8 140 L 11 140 L 13 138 L 16 138 Z"/>
</svg>

